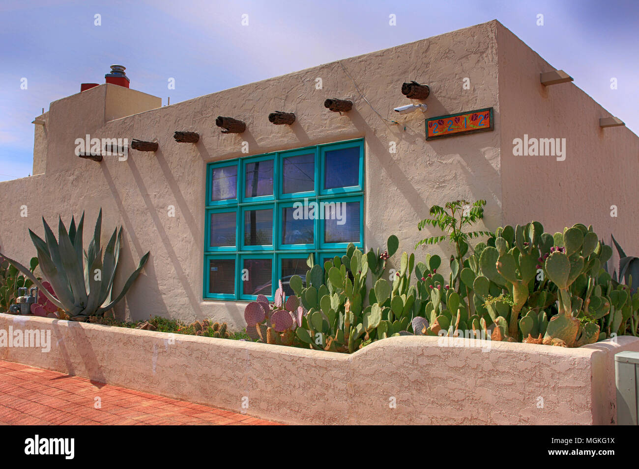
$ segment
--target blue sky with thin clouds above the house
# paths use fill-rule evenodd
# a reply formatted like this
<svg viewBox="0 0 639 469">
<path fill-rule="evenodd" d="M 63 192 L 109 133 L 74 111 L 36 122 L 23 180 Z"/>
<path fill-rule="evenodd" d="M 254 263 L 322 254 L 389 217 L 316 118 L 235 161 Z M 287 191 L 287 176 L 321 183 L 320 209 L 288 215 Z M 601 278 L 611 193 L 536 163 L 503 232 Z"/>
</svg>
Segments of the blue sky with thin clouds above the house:
<svg viewBox="0 0 639 469">
<path fill-rule="evenodd" d="M 639 133 L 637 0 L 2 0 L 0 181 L 31 173 L 31 121 L 42 108 L 103 83 L 111 64 L 166 105 L 493 19 Z M 276 32 L 293 40 L 265 40 Z"/>
</svg>

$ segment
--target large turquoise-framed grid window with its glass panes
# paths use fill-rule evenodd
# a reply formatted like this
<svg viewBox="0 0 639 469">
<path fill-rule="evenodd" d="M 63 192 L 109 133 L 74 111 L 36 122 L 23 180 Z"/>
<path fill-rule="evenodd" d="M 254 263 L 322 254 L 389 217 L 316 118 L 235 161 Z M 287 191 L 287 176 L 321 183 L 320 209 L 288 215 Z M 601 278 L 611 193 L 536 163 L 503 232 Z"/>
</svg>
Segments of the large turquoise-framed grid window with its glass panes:
<svg viewBox="0 0 639 469">
<path fill-rule="evenodd" d="M 364 244 L 364 140 L 208 163 L 204 298 L 291 295 L 306 259 Z"/>
</svg>

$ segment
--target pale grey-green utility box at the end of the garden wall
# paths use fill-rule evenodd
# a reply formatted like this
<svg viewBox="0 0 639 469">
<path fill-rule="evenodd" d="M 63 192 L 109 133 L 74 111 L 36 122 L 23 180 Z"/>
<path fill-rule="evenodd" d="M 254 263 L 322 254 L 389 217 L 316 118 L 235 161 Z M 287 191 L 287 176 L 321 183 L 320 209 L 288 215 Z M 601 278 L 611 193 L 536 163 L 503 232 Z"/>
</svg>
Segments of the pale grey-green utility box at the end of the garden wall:
<svg viewBox="0 0 639 469">
<path fill-rule="evenodd" d="M 615 355 L 617 425 L 636 425 L 639 409 L 639 352 Z"/>
</svg>

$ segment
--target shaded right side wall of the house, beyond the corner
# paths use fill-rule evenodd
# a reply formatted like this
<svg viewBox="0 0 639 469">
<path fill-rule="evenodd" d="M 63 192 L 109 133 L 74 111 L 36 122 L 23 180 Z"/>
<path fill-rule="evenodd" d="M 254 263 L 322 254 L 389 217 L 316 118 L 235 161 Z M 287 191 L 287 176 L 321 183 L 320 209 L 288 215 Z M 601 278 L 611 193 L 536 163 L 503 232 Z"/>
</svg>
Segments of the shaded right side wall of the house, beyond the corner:
<svg viewBox="0 0 639 469">
<path fill-rule="evenodd" d="M 639 138 L 626 127 L 599 127 L 599 118 L 610 112 L 574 82 L 544 87 L 539 73 L 556 68 L 502 24 L 497 44 L 500 109 L 508 116 L 500 127 L 504 222 L 537 220 L 551 233 L 584 223 L 608 244 L 612 233 L 626 253 L 636 255 Z M 512 141 L 524 134 L 566 138 L 566 160 L 513 156 Z M 611 205 L 617 205 L 617 218 L 610 216 Z"/>
</svg>

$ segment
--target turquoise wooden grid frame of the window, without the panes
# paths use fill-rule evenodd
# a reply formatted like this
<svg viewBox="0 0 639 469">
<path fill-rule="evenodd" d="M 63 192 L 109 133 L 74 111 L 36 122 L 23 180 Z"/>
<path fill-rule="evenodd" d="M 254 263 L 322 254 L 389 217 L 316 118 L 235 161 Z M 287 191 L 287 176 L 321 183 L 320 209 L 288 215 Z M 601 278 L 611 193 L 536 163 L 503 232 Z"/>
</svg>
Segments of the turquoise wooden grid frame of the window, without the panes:
<svg viewBox="0 0 639 469">
<path fill-rule="evenodd" d="M 323 190 L 323 170 L 324 158 L 327 151 L 339 150 L 348 147 L 358 147 L 359 159 L 359 185 L 348 188 L 335 188 L 331 190 Z M 314 190 L 299 193 L 283 194 L 283 163 L 284 160 L 291 156 L 300 154 L 314 154 Z M 273 160 L 273 195 L 259 197 L 244 197 L 245 191 L 245 168 L 246 165 L 255 161 Z M 217 200 L 212 198 L 212 173 L 213 168 L 236 166 L 237 168 L 237 197 L 235 199 Z M 359 202 L 360 203 L 360 239 L 353 244 L 362 248 L 364 246 L 364 139 L 357 138 L 344 142 L 314 145 L 310 147 L 286 150 L 281 152 L 272 152 L 255 156 L 247 156 L 244 158 L 236 158 L 234 160 L 211 162 L 206 165 L 206 196 L 205 196 L 205 226 L 204 226 L 204 275 L 203 275 L 203 298 L 207 300 L 224 300 L 224 301 L 253 301 L 256 295 L 246 295 L 243 292 L 242 285 L 242 269 L 243 262 L 247 258 L 271 258 L 271 296 L 273 299 L 275 294 L 276 283 L 282 278 L 282 259 L 295 258 L 302 262 L 310 254 L 314 256 L 315 262 L 330 256 L 334 258 L 338 255 L 340 258 L 346 253 L 348 242 L 341 243 L 325 243 L 324 241 L 324 222 L 319 217 L 314 220 L 314 242 L 312 244 L 282 244 L 282 207 L 292 207 L 295 202 Z M 245 246 L 244 244 L 244 216 L 247 210 L 259 210 L 270 208 L 273 209 L 273 244 L 268 246 Z M 210 216 L 216 212 L 235 212 L 236 213 L 236 231 L 235 246 L 210 247 Z M 319 215 L 319 214 L 318 214 Z M 235 261 L 235 293 L 216 294 L 208 291 L 210 281 L 209 262 L 211 259 L 232 259 Z M 321 262 L 323 267 L 323 262 Z M 308 269 L 306 269 L 308 270 Z"/>
</svg>

